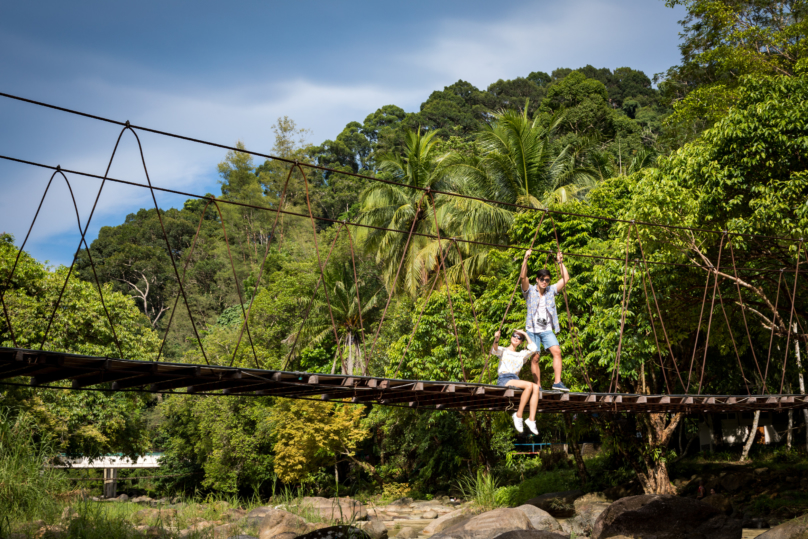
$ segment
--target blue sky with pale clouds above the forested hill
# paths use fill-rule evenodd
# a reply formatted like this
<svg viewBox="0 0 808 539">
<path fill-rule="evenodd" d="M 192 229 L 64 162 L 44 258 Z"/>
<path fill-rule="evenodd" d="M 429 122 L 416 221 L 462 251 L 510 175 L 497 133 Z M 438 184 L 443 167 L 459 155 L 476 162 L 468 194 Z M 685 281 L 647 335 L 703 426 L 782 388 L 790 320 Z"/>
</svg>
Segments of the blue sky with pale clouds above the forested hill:
<svg viewBox="0 0 808 539">
<path fill-rule="evenodd" d="M 679 59 L 684 12 L 649 0 L 567 2 L 4 2 L 0 91 L 121 121 L 268 152 L 287 115 L 334 138 L 346 123 L 467 80 L 480 88 L 557 67 L 630 66 L 649 76 Z M 103 174 L 118 128 L 0 98 L 0 154 Z M 145 134 L 155 185 L 218 193 L 224 151 Z M 131 136 L 113 177 L 145 183 Z M 50 174 L 0 160 L 0 231 L 19 245 Z M 70 178 L 82 218 L 96 180 Z M 26 250 L 69 263 L 78 233 L 54 182 Z M 161 206 L 183 199 L 158 195 Z M 105 187 L 89 236 L 151 205 Z"/>
</svg>

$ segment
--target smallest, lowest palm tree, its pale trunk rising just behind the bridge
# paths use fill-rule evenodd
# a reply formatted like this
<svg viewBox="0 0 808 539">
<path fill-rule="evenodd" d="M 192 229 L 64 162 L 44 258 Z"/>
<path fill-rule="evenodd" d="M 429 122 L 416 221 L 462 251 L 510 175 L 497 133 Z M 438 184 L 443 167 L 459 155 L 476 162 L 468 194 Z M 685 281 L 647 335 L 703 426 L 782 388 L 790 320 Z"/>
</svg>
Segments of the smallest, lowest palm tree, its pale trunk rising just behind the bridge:
<svg viewBox="0 0 808 539">
<path fill-rule="evenodd" d="M 362 345 L 365 343 L 364 328 L 369 328 L 373 322 L 373 315 L 378 307 L 381 290 L 371 290 L 362 286 L 362 282 L 354 282 L 351 268 L 344 264 L 335 270 L 325 273 L 325 286 L 328 287 L 329 306 L 325 295 L 318 294 L 318 299 L 311 306 L 308 320 L 301 322 L 295 332 L 289 335 L 284 342 L 292 343 L 303 339 L 307 345 L 316 345 L 334 337 L 334 327 L 337 332 L 337 353 L 331 366 L 331 373 L 336 371 L 339 360 L 342 374 L 355 374 L 356 369 L 362 375 L 368 375 L 368 358 L 365 356 Z M 357 303 L 357 289 L 360 310 Z M 321 299 L 322 298 L 322 299 Z M 331 315 L 334 324 L 331 324 Z M 372 333 L 371 333 L 372 335 Z"/>
</svg>

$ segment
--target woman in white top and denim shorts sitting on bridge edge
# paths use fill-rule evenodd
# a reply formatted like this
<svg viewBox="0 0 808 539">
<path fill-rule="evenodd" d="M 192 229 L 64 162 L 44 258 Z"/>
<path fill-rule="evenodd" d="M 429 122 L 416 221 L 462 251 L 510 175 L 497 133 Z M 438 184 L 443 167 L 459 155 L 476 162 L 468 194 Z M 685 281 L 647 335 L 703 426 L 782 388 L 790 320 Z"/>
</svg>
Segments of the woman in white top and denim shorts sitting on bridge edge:
<svg viewBox="0 0 808 539">
<path fill-rule="evenodd" d="M 539 384 L 534 384 L 525 380 L 519 379 L 519 371 L 525 364 L 525 360 L 536 353 L 536 343 L 534 343 L 530 336 L 517 329 L 511 335 L 511 344 L 507 348 L 502 348 L 499 345 L 500 332 L 494 333 L 494 346 L 491 348 L 491 353 L 500 358 L 499 369 L 497 370 L 497 385 L 498 386 L 513 386 L 522 390 L 522 399 L 519 401 L 519 409 L 513 414 L 513 424 L 516 430 L 520 433 L 524 431 L 522 426 L 522 415 L 525 411 L 527 402 L 530 401 L 530 417 L 524 423 L 533 434 L 538 434 L 536 430 L 536 408 L 539 406 Z M 517 351 L 516 349 L 527 339 L 527 349 Z M 535 363 L 535 365 L 534 365 Z M 538 378 L 538 361 L 531 362 L 531 369 Z"/>
</svg>

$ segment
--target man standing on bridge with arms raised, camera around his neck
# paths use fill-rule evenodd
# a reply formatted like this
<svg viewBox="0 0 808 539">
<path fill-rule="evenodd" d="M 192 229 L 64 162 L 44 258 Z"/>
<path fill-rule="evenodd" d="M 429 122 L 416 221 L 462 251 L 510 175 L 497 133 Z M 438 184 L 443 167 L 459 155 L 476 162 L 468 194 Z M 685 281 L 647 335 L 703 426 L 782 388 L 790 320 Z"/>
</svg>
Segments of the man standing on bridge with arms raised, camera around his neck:
<svg viewBox="0 0 808 539">
<path fill-rule="evenodd" d="M 569 392 L 567 386 L 561 382 L 561 346 L 558 344 L 556 333 L 561 331 L 558 325 L 558 312 L 556 311 L 555 297 L 570 280 L 570 274 L 564 265 L 564 256 L 559 251 L 556 254 L 558 266 L 561 268 L 561 279 L 550 284 L 550 270 L 540 269 L 536 273 L 536 286 L 530 286 L 527 278 L 527 261 L 532 251 L 528 249 L 522 261 L 522 270 L 519 272 L 519 282 L 522 286 L 522 295 L 527 301 L 527 334 L 541 351 L 541 347 L 548 349 L 553 356 L 553 372 L 555 380 L 552 389 Z M 537 361 L 534 359 L 533 361 Z"/>
</svg>

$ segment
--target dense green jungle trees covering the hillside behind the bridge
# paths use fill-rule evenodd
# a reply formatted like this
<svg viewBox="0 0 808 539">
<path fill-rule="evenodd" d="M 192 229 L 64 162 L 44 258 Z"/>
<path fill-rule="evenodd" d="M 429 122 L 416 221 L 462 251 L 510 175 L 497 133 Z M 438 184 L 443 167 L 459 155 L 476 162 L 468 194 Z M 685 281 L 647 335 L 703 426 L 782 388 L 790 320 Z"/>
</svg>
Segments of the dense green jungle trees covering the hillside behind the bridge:
<svg viewBox="0 0 808 539">
<path fill-rule="evenodd" d="M 781 385 L 784 392 L 797 391 L 793 349 L 785 367 L 784 361 L 787 343 L 804 347 L 808 340 L 808 284 L 779 269 L 808 256 L 800 240 L 808 232 L 806 4 L 670 3 L 688 13 L 682 61 L 653 82 L 630 67 L 587 65 L 548 74 L 526 66 L 523 77 L 485 89 L 459 80 L 432 92 L 415 112 L 384 106 L 316 145 L 290 118 L 267 126 L 275 133 L 272 155 L 334 171 L 312 171 L 304 180 L 286 163 L 259 162 L 238 151 L 219 164 L 219 201 L 272 209 L 282 204 L 306 214 L 308 197 L 316 217 L 424 234 L 409 243 L 406 234 L 326 221 L 317 222 L 315 235 L 308 218 L 291 215 L 282 215 L 271 234 L 272 211 L 198 199 L 160 210 L 170 252 L 154 208 L 101 229 L 90 252 L 124 356 L 153 359 L 161 350 L 167 361 L 202 363 L 190 310 L 211 363 L 485 379 L 495 373 L 494 362 L 484 372 L 487 350 L 505 316 L 523 249 L 544 215 L 507 205 L 517 204 L 569 212 L 542 224 L 531 272 L 548 267 L 557 279 L 547 253 L 558 247 L 616 259 L 565 258 L 572 280 L 569 313 L 559 311 L 560 340 L 563 379 L 573 391 L 586 389 L 583 368 L 601 391 L 613 379 L 620 391 L 637 393 L 683 393 L 696 386 L 716 394 L 760 393 L 764 386 L 779 391 Z M 347 173 L 507 204 L 425 197 Z M 791 240 L 694 234 L 576 214 Z M 479 243 L 439 245 L 427 237 L 436 233 Z M 318 285 L 316 249 L 325 260 L 332 246 Z M 730 250 L 742 273 L 729 266 Z M 0 283 L 18 343 L 36 348 L 67 269 L 45 267 L 23 253 L 14 279 L 6 282 L 17 252 L 15 238 L 4 235 Z M 188 309 L 177 300 L 170 254 L 185 275 Z M 634 292 L 615 376 L 626 255 Z M 643 259 L 673 265 L 649 265 L 646 272 Z M 719 273 L 694 264 L 717 266 Z M 709 298 L 708 311 L 702 310 L 705 280 L 711 287 L 717 282 L 721 296 L 712 312 Z M 642 292 L 650 286 L 659 310 Z M 236 347 L 242 309 L 250 304 L 251 333 Z M 517 295 L 505 328 L 523 325 L 524 301 Z M 11 346 L 5 320 L 0 341 Z M 84 251 L 46 348 L 118 355 Z M 764 372 L 767 359 L 771 366 Z M 549 356 L 540 362 L 543 373 L 551 372 Z M 447 489 L 464 470 L 503 466 L 515 442 L 507 416 L 482 412 L 27 388 L 7 389 L 2 400 L 33 414 L 41 436 L 69 454 L 164 450 L 167 473 L 190 474 L 166 479 L 166 485 L 187 491 L 249 491 L 276 480 L 322 486 L 333 484 L 336 474 L 354 486 L 407 483 L 432 492 Z M 595 433 L 625 457 L 627 469 L 644 477 L 647 491 L 665 492 L 670 431 L 680 420 L 675 414 L 578 417 L 573 425 L 569 418 L 542 416 L 539 439 Z M 623 435 L 636 430 L 644 437 Z"/>
</svg>

